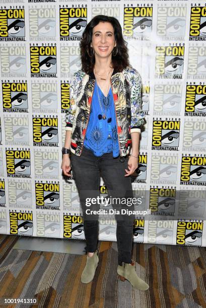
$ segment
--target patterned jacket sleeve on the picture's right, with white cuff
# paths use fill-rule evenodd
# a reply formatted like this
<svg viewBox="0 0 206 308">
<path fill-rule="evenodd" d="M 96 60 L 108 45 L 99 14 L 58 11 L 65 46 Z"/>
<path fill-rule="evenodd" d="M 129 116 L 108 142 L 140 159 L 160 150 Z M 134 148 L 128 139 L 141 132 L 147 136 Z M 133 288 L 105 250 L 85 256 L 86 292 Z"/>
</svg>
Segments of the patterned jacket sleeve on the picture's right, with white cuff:
<svg viewBox="0 0 206 308">
<path fill-rule="evenodd" d="M 130 132 L 141 133 L 141 125 L 145 124 L 145 114 L 142 112 L 142 78 L 140 73 L 132 68 L 131 73 L 131 127 Z"/>
</svg>

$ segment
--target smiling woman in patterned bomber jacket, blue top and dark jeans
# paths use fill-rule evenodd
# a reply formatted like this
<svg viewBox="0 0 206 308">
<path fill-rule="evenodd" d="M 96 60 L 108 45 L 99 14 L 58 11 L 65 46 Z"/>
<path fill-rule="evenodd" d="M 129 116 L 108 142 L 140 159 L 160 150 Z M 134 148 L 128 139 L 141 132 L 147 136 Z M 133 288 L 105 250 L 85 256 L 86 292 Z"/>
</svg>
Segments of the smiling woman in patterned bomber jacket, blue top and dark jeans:
<svg viewBox="0 0 206 308">
<path fill-rule="evenodd" d="M 125 44 L 117 19 L 94 17 L 80 43 L 82 70 L 73 75 L 70 86 L 61 169 L 71 176 L 72 165 L 83 210 L 87 244 L 83 283 L 92 281 L 99 261 L 98 216 L 87 214 L 86 198 L 99 195 L 100 176 L 110 196 L 132 196 L 130 176 L 138 168 L 140 126 L 145 117 L 141 113 L 142 81 L 139 72 L 129 66 Z M 118 209 L 122 204 L 113 202 L 112 206 Z M 115 218 L 117 273 L 122 281 L 127 279 L 135 288 L 146 290 L 149 285 L 136 275 L 131 260 L 135 217 L 120 214 Z"/>
</svg>

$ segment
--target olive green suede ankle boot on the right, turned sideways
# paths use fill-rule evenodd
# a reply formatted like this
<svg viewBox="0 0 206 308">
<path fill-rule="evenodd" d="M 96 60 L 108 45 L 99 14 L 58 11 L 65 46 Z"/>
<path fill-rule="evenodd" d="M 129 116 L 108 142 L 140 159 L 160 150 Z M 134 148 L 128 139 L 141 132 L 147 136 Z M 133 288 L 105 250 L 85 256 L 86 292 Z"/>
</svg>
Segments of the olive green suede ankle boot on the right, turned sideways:
<svg viewBox="0 0 206 308">
<path fill-rule="evenodd" d="M 119 274 L 120 280 L 125 281 L 127 279 L 133 287 L 139 290 L 149 289 L 149 285 L 136 275 L 134 265 L 135 263 L 133 261 L 131 264 L 122 262 L 122 266 L 118 265 L 117 273 Z"/>
</svg>

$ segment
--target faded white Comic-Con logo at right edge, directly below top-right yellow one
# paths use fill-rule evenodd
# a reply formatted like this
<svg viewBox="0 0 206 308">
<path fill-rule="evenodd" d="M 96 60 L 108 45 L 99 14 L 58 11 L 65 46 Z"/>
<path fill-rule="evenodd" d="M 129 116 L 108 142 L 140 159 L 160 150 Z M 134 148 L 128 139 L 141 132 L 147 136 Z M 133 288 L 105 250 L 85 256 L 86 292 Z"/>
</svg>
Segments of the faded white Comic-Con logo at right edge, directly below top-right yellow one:
<svg viewBox="0 0 206 308">
<path fill-rule="evenodd" d="M 206 78 L 206 47 L 204 43 L 202 44 L 203 46 L 189 46 L 188 48 L 187 79 Z"/>
</svg>

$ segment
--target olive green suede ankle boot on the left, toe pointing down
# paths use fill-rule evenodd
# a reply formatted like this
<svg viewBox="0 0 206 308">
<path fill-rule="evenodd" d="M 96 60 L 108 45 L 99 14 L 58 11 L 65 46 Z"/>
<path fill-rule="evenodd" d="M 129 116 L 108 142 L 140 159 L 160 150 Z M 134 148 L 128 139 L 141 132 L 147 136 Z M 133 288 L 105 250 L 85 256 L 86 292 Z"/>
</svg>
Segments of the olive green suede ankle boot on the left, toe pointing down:
<svg viewBox="0 0 206 308">
<path fill-rule="evenodd" d="M 92 257 L 87 256 L 87 263 L 85 265 L 85 268 L 81 276 L 81 281 L 83 283 L 89 283 L 93 280 L 98 262 L 99 258 L 97 250 L 95 251 Z"/>
</svg>

